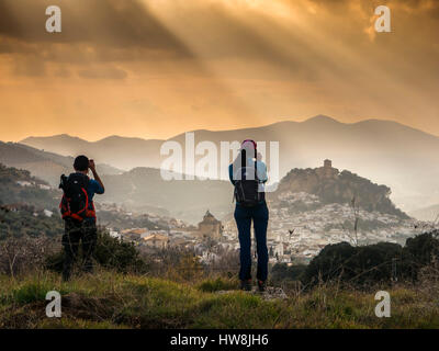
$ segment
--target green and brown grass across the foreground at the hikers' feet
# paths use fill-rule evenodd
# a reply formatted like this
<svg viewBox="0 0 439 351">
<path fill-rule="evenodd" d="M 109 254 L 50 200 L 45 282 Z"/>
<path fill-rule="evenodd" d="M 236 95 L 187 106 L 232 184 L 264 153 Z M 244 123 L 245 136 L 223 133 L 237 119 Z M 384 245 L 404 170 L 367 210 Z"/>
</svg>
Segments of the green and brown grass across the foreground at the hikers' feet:
<svg viewBox="0 0 439 351">
<path fill-rule="evenodd" d="M 237 286 L 233 280 L 183 284 L 105 271 L 68 283 L 47 272 L 0 275 L 0 328 L 439 328 L 438 294 L 414 288 L 390 290 L 392 317 L 378 318 L 374 293 L 323 286 L 264 301 Z M 61 318 L 45 315 L 53 290 L 63 296 Z"/>
</svg>

